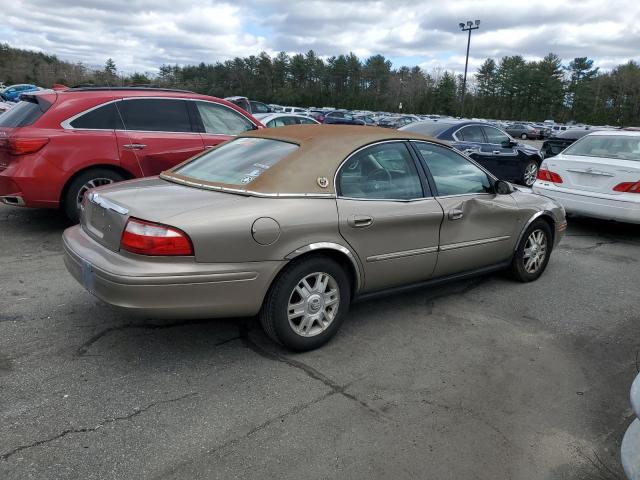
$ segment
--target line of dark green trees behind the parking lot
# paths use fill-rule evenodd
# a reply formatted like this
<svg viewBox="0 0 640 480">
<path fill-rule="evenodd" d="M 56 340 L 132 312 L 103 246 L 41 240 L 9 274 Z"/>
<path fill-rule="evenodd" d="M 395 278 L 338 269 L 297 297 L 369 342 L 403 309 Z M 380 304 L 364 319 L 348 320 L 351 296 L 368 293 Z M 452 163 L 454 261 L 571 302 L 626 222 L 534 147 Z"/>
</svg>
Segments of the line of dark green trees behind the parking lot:
<svg viewBox="0 0 640 480">
<path fill-rule="evenodd" d="M 458 116 L 462 76 L 444 69 L 393 68 L 382 55 L 319 57 L 265 52 L 224 62 L 161 65 L 158 73 L 118 72 L 70 63 L 53 55 L 0 44 L 0 80 L 51 86 L 154 85 L 296 106 Z M 520 55 L 487 59 L 467 82 L 467 117 L 554 119 L 591 125 L 640 125 L 640 65 L 634 61 L 600 71 L 587 57 L 568 65 L 550 53 L 539 61 Z"/>
</svg>

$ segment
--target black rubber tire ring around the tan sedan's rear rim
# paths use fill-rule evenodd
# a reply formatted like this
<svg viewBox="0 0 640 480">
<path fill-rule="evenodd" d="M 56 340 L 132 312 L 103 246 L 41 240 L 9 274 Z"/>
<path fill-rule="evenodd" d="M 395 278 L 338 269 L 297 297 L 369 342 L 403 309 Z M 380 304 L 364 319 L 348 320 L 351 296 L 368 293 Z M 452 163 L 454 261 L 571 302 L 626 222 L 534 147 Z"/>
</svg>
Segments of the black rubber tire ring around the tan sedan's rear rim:
<svg viewBox="0 0 640 480">
<path fill-rule="evenodd" d="M 289 324 L 287 307 L 291 292 L 298 282 L 314 272 L 328 273 L 335 279 L 340 290 L 340 304 L 338 314 L 324 332 L 313 337 L 301 337 Z M 269 314 L 277 339 L 285 347 L 298 351 L 312 350 L 327 343 L 340 329 L 351 302 L 349 277 L 338 263 L 327 257 L 306 258 L 288 267 L 287 271 L 278 278 L 272 294 L 274 295 L 270 302 L 272 311 Z"/>
</svg>

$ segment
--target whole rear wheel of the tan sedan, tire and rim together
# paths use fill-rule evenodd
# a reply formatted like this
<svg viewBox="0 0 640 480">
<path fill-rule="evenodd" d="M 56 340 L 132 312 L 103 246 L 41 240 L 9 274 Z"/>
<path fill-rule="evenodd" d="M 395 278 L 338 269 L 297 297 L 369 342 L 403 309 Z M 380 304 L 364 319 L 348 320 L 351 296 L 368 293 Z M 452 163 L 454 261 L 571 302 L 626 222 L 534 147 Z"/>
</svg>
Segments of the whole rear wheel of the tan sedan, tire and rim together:
<svg viewBox="0 0 640 480">
<path fill-rule="evenodd" d="M 329 302 L 334 303 L 325 305 Z M 287 265 L 276 278 L 258 318 L 273 341 L 307 351 L 337 333 L 350 303 L 351 284 L 344 269 L 328 257 L 306 257 Z"/>
</svg>

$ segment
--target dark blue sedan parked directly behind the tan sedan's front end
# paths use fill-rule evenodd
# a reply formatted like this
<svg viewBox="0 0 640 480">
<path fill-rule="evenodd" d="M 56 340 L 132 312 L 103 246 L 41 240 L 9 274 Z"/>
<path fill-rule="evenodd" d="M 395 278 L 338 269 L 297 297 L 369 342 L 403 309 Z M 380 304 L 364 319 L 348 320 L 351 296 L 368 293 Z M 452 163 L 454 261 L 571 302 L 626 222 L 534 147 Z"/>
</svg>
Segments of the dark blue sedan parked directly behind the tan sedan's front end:
<svg viewBox="0 0 640 480">
<path fill-rule="evenodd" d="M 504 131 L 486 122 L 428 120 L 410 123 L 400 130 L 444 140 L 501 180 L 527 187 L 536 181 L 542 163 L 537 149 L 518 143 Z"/>
</svg>

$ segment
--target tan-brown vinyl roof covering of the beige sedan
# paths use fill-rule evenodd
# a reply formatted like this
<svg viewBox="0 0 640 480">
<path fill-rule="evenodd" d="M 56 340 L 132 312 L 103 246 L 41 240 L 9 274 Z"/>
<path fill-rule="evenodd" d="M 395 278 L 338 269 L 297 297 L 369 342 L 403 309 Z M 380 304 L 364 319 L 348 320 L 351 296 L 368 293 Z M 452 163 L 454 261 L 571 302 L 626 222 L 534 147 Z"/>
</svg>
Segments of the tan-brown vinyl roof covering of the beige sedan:
<svg viewBox="0 0 640 480">
<path fill-rule="evenodd" d="M 300 146 L 296 151 L 273 165 L 268 171 L 246 185 L 230 185 L 198 181 L 204 187 L 222 188 L 239 193 L 277 194 L 334 194 L 333 179 L 338 167 L 352 152 L 384 140 L 428 140 L 430 137 L 394 129 L 357 125 L 291 125 L 265 128 L 243 133 L 238 138 L 269 138 Z M 444 145 L 444 144 L 443 144 Z M 188 177 L 167 172 L 163 177 L 192 183 Z M 326 187 L 318 179 L 328 180 Z"/>
</svg>

